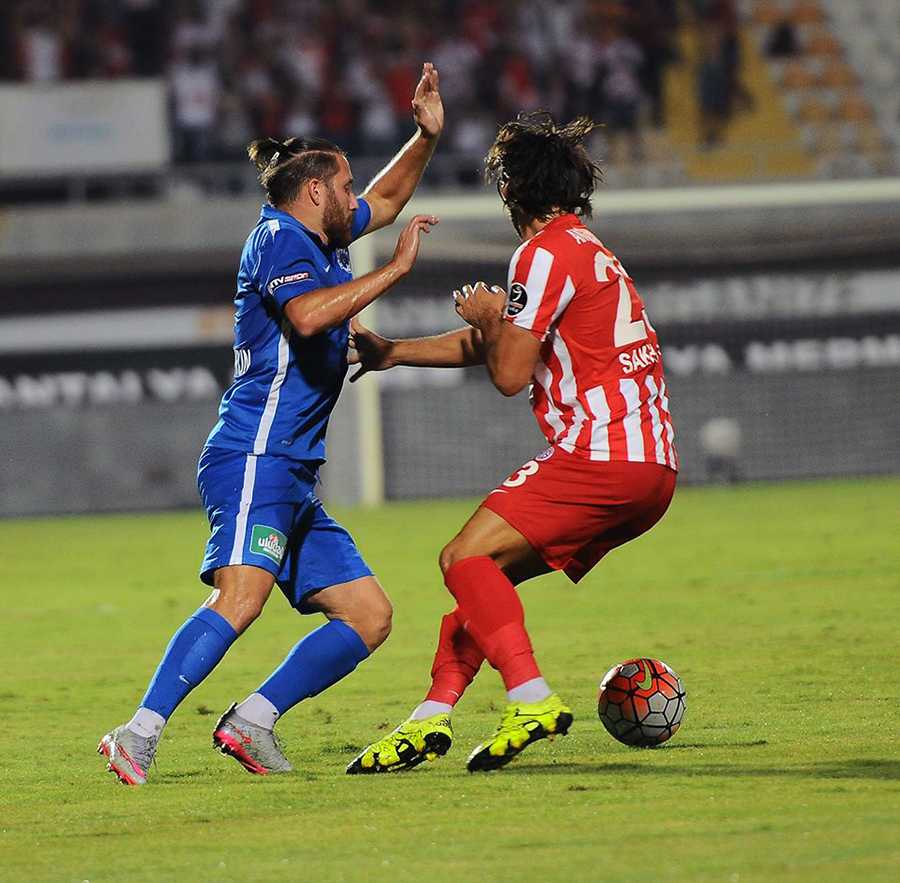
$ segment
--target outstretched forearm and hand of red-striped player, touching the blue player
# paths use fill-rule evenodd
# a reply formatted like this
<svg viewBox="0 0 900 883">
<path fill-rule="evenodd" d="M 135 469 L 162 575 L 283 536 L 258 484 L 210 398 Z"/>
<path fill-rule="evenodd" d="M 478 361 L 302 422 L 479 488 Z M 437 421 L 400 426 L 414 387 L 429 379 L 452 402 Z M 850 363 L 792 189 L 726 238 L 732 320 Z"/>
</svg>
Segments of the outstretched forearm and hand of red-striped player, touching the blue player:
<svg viewBox="0 0 900 883">
<path fill-rule="evenodd" d="M 360 369 L 351 383 L 369 371 L 384 371 L 397 365 L 416 368 L 465 368 L 484 364 L 481 333 L 477 328 L 460 328 L 433 337 L 390 340 L 365 328 L 358 319 L 350 325 L 352 352 L 348 361 Z"/>
</svg>

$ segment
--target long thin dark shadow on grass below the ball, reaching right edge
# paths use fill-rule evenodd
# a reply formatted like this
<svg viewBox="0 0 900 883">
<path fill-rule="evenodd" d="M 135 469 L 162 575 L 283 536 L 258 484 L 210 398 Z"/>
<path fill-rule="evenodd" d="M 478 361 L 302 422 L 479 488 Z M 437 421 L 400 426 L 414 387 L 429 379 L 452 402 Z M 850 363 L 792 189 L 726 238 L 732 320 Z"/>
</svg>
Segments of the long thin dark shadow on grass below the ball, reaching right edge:
<svg viewBox="0 0 900 883">
<path fill-rule="evenodd" d="M 646 776 L 724 776 L 733 778 L 794 777 L 798 779 L 884 779 L 900 780 L 900 761 L 883 759 L 832 760 L 800 766 L 762 766 L 740 764 L 692 764 L 659 766 L 632 761 L 604 763 L 529 763 L 509 767 L 504 775 L 523 773 L 577 773 L 579 776 L 607 776 L 634 773 Z"/>
</svg>

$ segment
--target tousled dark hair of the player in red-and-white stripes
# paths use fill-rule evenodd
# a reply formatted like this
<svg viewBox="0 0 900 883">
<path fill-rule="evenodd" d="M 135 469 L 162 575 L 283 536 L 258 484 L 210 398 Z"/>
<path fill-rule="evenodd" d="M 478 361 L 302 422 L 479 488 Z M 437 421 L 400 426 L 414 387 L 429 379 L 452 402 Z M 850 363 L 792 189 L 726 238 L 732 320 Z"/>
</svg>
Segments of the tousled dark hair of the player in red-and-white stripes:
<svg viewBox="0 0 900 883">
<path fill-rule="evenodd" d="M 484 161 L 485 180 L 497 182 L 514 224 L 560 209 L 591 217 L 591 194 L 603 175 L 582 142 L 597 127 L 588 117 L 561 126 L 543 110 L 500 127 Z"/>
</svg>

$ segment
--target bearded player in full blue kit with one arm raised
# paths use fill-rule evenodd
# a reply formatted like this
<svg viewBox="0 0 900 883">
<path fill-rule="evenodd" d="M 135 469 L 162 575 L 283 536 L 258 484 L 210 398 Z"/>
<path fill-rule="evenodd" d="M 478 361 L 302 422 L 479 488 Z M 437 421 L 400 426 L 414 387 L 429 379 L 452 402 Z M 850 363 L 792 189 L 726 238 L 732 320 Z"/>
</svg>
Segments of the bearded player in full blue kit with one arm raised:
<svg viewBox="0 0 900 883">
<path fill-rule="evenodd" d="M 167 720 L 260 614 L 275 584 L 299 612 L 323 613 L 328 622 L 216 724 L 214 746 L 250 772 L 290 770 L 275 722 L 348 675 L 390 632 L 387 595 L 313 491 L 347 372 L 350 319 L 412 269 L 420 234 L 438 220 L 413 217 L 391 260 L 353 278 L 347 246 L 393 223 L 443 128 L 431 64 L 412 108 L 415 135 L 359 199 L 346 157 L 329 141 L 250 145 L 267 203 L 238 273 L 234 382 L 198 472 L 211 528 L 201 579 L 212 593 L 169 642 L 132 719 L 100 742 L 124 784 L 146 782 Z"/>
</svg>

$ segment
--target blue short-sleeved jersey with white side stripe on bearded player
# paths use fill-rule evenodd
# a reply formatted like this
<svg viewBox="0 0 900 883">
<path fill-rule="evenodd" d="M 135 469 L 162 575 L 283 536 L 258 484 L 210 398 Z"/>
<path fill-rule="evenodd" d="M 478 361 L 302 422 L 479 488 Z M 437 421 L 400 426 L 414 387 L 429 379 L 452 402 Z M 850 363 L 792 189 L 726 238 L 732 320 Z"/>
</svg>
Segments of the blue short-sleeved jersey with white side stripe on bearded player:
<svg viewBox="0 0 900 883">
<path fill-rule="evenodd" d="M 372 211 L 359 200 L 356 239 Z M 264 205 L 241 255 L 234 302 L 234 382 L 207 445 L 325 460 L 325 430 L 347 374 L 349 322 L 302 338 L 285 304 L 353 278 L 350 252 L 329 248 L 287 212 Z"/>
</svg>

